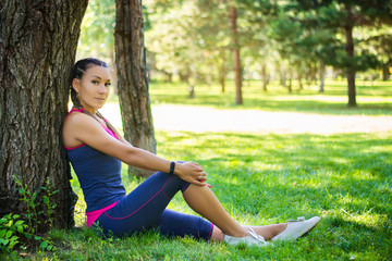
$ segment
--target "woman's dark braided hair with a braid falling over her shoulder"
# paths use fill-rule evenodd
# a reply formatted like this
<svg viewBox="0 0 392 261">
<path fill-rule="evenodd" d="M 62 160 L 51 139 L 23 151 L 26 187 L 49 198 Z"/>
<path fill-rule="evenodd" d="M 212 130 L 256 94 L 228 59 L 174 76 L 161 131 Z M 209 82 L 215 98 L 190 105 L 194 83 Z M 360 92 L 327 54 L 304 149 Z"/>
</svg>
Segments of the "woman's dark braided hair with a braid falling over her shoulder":
<svg viewBox="0 0 392 261">
<path fill-rule="evenodd" d="M 101 60 L 98 60 L 95 58 L 85 58 L 85 59 L 78 60 L 72 69 L 71 88 L 70 88 L 71 89 L 71 100 L 72 100 L 72 103 L 74 104 L 74 107 L 76 107 L 76 109 L 78 109 L 78 110 L 83 109 L 83 105 L 82 105 L 79 99 L 77 98 L 76 90 L 72 87 L 72 80 L 74 78 L 82 79 L 82 77 L 86 73 L 86 71 L 93 66 L 109 67 L 108 64 Z M 83 113 L 85 113 L 98 121 L 98 119 L 94 114 L 88 112 L 87 110 L 83 110 Z M 96 111 L 96 114 L 98 117 L 102 119 L 106 122 L 109 129 L 111 129 L 115 133 L 113 125 L 111 125 L 98 110 Z"/>
</svg>

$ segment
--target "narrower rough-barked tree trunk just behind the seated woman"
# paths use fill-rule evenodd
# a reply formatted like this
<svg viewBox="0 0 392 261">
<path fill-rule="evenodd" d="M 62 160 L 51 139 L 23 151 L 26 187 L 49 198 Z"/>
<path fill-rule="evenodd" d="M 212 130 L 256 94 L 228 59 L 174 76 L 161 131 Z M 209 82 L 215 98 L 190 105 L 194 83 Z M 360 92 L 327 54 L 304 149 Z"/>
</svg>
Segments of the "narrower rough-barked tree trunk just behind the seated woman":
<svg viewBox="0 0 392 261">
<path fill-rule="evenodd" d="M 124 136 L 135 147 L 156 152 L 152 114 L 146 75 L 140 0 L 115 1 L 115 62 Z M 130 175 L 151 173 L 130 166 Z"/>
</svg>

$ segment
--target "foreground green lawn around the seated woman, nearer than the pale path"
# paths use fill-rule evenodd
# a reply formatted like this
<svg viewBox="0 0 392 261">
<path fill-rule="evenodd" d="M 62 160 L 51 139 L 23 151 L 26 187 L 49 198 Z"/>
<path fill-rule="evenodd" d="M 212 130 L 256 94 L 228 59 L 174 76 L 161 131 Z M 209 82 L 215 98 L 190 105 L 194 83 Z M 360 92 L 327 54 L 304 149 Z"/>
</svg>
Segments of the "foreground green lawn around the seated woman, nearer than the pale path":
<svg viewBox="0 0 392 261">
<path fill-rule="evenodd" d="M 208 173 L 207 183 L 228 212 L 242 224 L 268 225 L 297 216 L 319 215 L 320 224 L 306 237 L 270 249 L 231 248 L 191 238 L 169 239 L 157 234 L 135 235 L 115 241 L 115 249 L 139 258 L 198 257 L 204 249 L 218 258 L 307 260 L 338 258 L 384 260 L 392 248 L 392 132 L 316 134 L 252 134 L 156 132 L 158 156 L 196 161 Z M 143 179 L 122 170 L 127 191 Z M 84 204 L 77 179 L 72 186 L 79 196 L 76 221 L 84 226 Z M 196 214 L 177 194 L 170 209 Z M 86 232 L 74 234 L 84 238 Z M 86 245 L 73 251 L 84 250 Z M 114 239 L 113 239 L 114 240 Z M 106 251 L 114 245 L 91 248 Z M 191 248 L 189 248 L 191 246 Z M 198 251 L 192 251 L 193 248 Z M 76 250 L 75 250 L 76 249 Z M 151 253 L 154 251 L 154 253 Z M 191 251 L 191 252 L 189 252 Z M 283 252 L 283 253 L 282 253 Z M 63 253 L 66 259 L 66 253 Z M 103 254 L 103 253 L 102 253 Z M 160 256 L 161 254 L 161 256 Z M 169 254 L 169 256 L 168 256 Z M 132 256 L 132 257 L 136 257 Z M 125 256 L 124 256 L 125 257 Z M 205 254 L 201 259 L 208 259 Z"/>
</svg>

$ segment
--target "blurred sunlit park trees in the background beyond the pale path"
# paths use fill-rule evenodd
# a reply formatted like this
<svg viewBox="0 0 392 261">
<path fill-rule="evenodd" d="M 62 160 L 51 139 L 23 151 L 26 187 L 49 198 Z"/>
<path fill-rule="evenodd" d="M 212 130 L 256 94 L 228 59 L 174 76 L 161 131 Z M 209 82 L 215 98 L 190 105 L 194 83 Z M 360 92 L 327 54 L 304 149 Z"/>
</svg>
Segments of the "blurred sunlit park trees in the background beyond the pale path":
<svg viewBox="0 0 392 261">
<path fill-rule="evenodd" d="M 210 99 L 201 99 L 199 91 L 210 89 L 217 96 L 229 92 L 232 98 L 215 104 L 223 107 L 244 104 L 268 109 L 271 102 L 264 105 L 262 101 L 255 101 L 250 95 L 254 90 L 259 95 L 264 91 L 265 97 L 271 92 L 278 96 L 339 92 L 345 96 L 339 102 L 350 107 L 356 107 L 357 99 L 369 94 L 373 98 L 385 97 L 390 94 L 392 72 L 390 4 L 389 1 L 143 1 L 151 101 L 161 100 L 154 95 L 163 82 L 173 83 L 169 86 L 175 87 L 175 91 L 185 91 L 191 99 L 197 99 L 192 101 L 181 96 L 174 102 L 208 104 Z M 89 2 L 77 57 L 108 61 L 113 70 L 115 95 L 114 10 L 113 0 Z M 390 103 L 373 101 L 385 109 Z M 297 107 L 283 103 L 281 108 L 292 110 L 292 105 Z"/>
</svg>

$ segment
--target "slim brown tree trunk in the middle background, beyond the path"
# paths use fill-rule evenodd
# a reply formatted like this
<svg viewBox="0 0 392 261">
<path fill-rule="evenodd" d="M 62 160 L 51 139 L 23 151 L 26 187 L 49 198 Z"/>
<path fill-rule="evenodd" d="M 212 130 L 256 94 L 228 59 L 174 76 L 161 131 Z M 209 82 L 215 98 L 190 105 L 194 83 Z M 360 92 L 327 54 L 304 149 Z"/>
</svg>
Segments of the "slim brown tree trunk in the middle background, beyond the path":
<svg viewBox="0 0 392 261">
<path fill-rule="evenodd" d="M 241 105 L 242 99 L 242 70 L 240 59 L 240 45 L 237 35 L 237 12 L 236 8 L 230 7 L 230 25 L 232 32 L 233 57 L 234 57 L 234 80 L 235 80 L 235 103 Z"/>
</svg>

